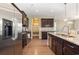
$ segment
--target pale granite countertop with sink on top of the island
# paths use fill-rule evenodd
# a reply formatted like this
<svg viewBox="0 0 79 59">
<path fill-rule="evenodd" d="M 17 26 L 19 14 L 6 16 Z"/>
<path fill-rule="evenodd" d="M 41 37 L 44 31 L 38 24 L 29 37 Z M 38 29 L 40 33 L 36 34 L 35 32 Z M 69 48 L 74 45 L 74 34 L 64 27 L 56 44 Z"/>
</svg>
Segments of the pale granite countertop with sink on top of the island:
<svg viewBox="0 0 79 59">
<path fill-rule="evenodd" d="M 59 37 L 63 40 L 66 40 L 68 42 L 71 42 L 71 43 L 76 44 L 76 45 L 79 46 L 79 35 L 76 35 L 75 37 L 69 37 L 69 36 L 62 36 L 62 35 L 59 35 L 59 34 L 54 33 L 54 32 L 48 32 L 48 34 L 57 36 L 57 37 Z"/>
</svg>

